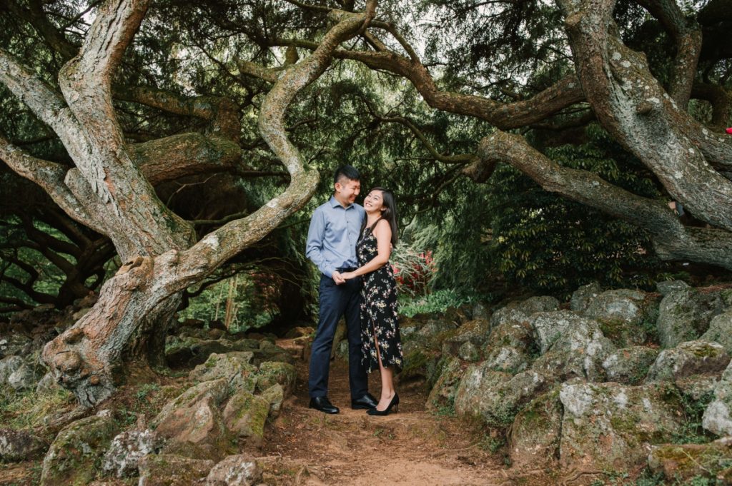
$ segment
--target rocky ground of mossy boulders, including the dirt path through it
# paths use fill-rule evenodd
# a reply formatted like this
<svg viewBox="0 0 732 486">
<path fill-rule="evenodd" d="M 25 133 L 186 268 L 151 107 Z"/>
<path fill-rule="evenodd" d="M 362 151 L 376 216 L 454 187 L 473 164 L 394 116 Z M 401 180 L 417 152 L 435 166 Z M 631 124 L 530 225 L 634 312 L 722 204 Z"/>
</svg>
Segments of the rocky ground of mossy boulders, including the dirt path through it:
<svg viewBox="0 0 732 486">
<path fill-rule="evenodd" d="M 0 484 L 732 484 L 732 289 L 578 289 L 401 322 L 400 411 L 307 409 L 312 328 L 171 330 L 171 368 L 79 409 L 38 360 L 83 308 L 0 323 Z M 339 342 L 340 341 L 340 342 Z M 378 376 L 371 376 L 378 392 Z"/>
</svg>

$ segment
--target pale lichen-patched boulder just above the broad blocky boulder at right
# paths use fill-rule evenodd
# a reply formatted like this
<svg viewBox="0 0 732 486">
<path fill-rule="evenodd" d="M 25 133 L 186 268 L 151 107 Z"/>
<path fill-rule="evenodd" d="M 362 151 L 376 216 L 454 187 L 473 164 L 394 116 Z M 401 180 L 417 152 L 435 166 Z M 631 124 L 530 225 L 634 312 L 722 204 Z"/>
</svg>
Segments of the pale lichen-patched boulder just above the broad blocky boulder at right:
<svg viewBox="0 0 732 486">
<path fill-rule="evenodd" d="M 597 322 L 572 320 L 572 325 L 564 327 L 561 335 L 553 339 L 551 348 L 534 361 L 532 370 L 552 376 L 554 381 L 575 377 L 589 381 L 605 379 L 602 363 L 615 352 L 615 346 L 605 338 Z"/>
</svg>

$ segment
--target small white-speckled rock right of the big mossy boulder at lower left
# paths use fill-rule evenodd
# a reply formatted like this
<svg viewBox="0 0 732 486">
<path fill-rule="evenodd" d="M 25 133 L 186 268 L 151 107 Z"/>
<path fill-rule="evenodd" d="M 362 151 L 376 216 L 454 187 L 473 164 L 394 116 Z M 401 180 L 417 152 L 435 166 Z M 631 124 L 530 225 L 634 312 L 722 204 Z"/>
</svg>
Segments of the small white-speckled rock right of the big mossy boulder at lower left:
<svg viewBox="0 0 732 486">
<path fill-rule="evenodd" d="M 139 460 L 157 452 L 162 445 L 151 430 L 127 430 L 112 439 L 102 458 L 102 471 L 118 478 L 136 476 Z"/>
</svg>

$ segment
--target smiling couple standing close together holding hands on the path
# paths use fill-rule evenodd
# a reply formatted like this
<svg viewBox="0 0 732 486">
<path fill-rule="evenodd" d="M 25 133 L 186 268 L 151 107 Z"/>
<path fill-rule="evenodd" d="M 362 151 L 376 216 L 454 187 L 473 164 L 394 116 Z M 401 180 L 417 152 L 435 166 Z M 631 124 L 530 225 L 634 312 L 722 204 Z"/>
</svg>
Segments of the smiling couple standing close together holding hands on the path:
<svg viewBox="0 0 732 486">
<path fill-rule="evenodd" d="M 399 395 L 394 373 L 402 368 L 397 324 L 397 288 L 389 255 L 397 244 L 394 194 L 375 187 L 364 205 L 355 203 L 361 190 L 359 172 L 339 167 L 334 192 L 310 220 L 305 254 L 321 271 L 320 319 L 310 353 L 310 408 L 337 414 L 328 400 L 330 354 L 335 328 L 346 317 L 348 384 L 351 408 L 370 415 L 396 411 Z M 381 372 L 381 398 L 368 392 L 366 373 Z"/>
</svg>

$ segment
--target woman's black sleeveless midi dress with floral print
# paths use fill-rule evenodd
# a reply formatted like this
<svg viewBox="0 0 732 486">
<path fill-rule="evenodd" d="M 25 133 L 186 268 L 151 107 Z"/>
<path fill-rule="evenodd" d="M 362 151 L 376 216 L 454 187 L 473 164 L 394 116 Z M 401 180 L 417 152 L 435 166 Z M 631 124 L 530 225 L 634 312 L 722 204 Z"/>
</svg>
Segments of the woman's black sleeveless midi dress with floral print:
<svg viewBox="0 0 732 486">
<path fill-rule="evenodd" d="M 373 227 L 366 228 L 358 243 L 356 255 L 359 266 L 365 265 L 378 254 Z M 397 282 L 392 265 L 387 263 L 378 270 L 362 276 L 361 287 L 361 349 L 362 362 L 369 373 L 378 370 L 378 356 L 374 335 L 378 341 L 381 364 L 402 369 L 402 341 L 397 324 Z"/>
</svg>

